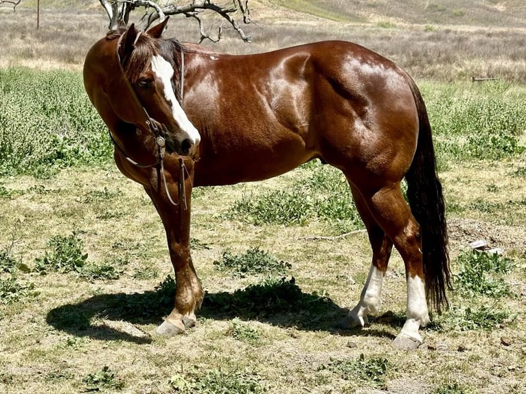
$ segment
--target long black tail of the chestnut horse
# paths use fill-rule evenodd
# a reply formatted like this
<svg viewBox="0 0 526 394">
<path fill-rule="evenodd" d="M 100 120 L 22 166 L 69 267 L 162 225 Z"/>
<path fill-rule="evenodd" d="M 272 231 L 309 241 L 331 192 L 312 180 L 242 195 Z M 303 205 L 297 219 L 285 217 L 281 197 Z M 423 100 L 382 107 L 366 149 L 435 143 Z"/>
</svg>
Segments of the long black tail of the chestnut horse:
<svg viewBox="0 0 526 394">
<path fill-rule="evenodd" d="M 408 76 L 418 109 L 418 144 L 406 174 L 407 198 L 422 231 L 422 256 L 428 303 L 438 313 L 448 308 L 446 290 L 451 290 L 448 232 L 442 185 L 437 177 L 435 149 L 426 106 L 415 82 Z"/>
</svg>

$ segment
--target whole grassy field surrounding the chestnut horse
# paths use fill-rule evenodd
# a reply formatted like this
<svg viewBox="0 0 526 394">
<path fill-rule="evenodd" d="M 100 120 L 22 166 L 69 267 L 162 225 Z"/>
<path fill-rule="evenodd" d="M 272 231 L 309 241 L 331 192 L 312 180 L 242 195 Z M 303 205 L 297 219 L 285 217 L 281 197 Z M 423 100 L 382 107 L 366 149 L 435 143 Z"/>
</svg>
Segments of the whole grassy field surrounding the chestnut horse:
<svg viewBox="0 0 526 394">
<path fill-rule="evenodd" d="M 0 6 L 0 393 L 526 393 L 523 1 L 253 1 L 252 44 L 231 31 L 206 44 L 352 40 L 417 80 L 455 292 L 415 351 L 391 347 L 405 319 L 398 253 L 380 316 L 339 329 L 371 257 L 343 176 L 318 161 L 194 189 L 192 258 L 207 294 L 196 327 L 155 334 L 175 288 L 163 227 L 113 164 L 82 86 L 107 21 L 97 1 L 49 0 L 37 32 L 34 3 Z M 196 40 L 196 26 L 174 18 L 168 35 Z M 476 240 L 486 251 L 471 250 Z"/>
</svg>

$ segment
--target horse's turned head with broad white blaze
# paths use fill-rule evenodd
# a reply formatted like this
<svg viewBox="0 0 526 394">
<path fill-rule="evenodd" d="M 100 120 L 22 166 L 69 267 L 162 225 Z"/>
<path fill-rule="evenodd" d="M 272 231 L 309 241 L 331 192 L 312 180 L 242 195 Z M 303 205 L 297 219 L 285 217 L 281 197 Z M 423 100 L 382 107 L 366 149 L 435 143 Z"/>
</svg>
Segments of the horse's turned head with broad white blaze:
<svg viewBox="0 0 526 394">
<path fill-rule="evenodd" d="M 187 155 L 194 152 L 201 136 L 179 102 L 183 48 L 170 40 L 170 53 L 161 53 L 161 47 L 166 45 L 160 37 L 167 21 L 148 32 L 139 32 L 130 25 L 118 40 L 116 57 L 129 91 L 121 92 L 121 97 L 131 97 L 135 103 L 127 105 L 137 107 L 126 111 L 131 119 L 123 120 L 141 129 L 148 128 L 155 137 L 165 139 L 168 149 Z"/>
</svg>

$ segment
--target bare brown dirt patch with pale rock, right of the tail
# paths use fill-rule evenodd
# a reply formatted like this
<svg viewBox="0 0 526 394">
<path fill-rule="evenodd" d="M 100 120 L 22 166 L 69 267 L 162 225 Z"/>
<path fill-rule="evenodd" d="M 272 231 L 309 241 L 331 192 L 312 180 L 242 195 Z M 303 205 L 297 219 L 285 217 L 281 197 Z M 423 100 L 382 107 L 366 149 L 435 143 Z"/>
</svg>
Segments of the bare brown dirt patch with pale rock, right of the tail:
<svg viewBox="0 0 526 394">
<path fill-rule="evenodd" d="M 470 242 L 486 240 L 488 248 L 503 248 L 526 254 L 526 229 L 491 224 L 473 219 L 448 220 L 450 244 L 468 246 Z"/>
</svg>

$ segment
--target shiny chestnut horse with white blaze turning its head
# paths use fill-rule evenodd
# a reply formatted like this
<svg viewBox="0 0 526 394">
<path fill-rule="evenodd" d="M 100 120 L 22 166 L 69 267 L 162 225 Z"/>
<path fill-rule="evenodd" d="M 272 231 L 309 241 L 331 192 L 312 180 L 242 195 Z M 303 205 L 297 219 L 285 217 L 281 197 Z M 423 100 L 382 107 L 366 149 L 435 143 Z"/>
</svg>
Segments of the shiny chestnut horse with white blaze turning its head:
<svg viewBox="0 0 526 394">
<path fill-rule="evenodd" d="M 407 320 L 393 346 L 422 344 L 429 308 L 448 308 L 451 285 L 442 185 L 414 80 L 354 43 L 233 56 L 162 38 L 167 22 L 108 32 L 89 49 L 83 71 L 117 167 L 144 187 L 165 229 L 176 294 L 157 333 L 196 325 L 203 301 L 190 256 L 192 187 L 260 181 L 319 159 L 347 178 L 372 251 L 361 297 L 341 328 L 363 327 L 378 314 L 395 246 Z"/>
</svg>

